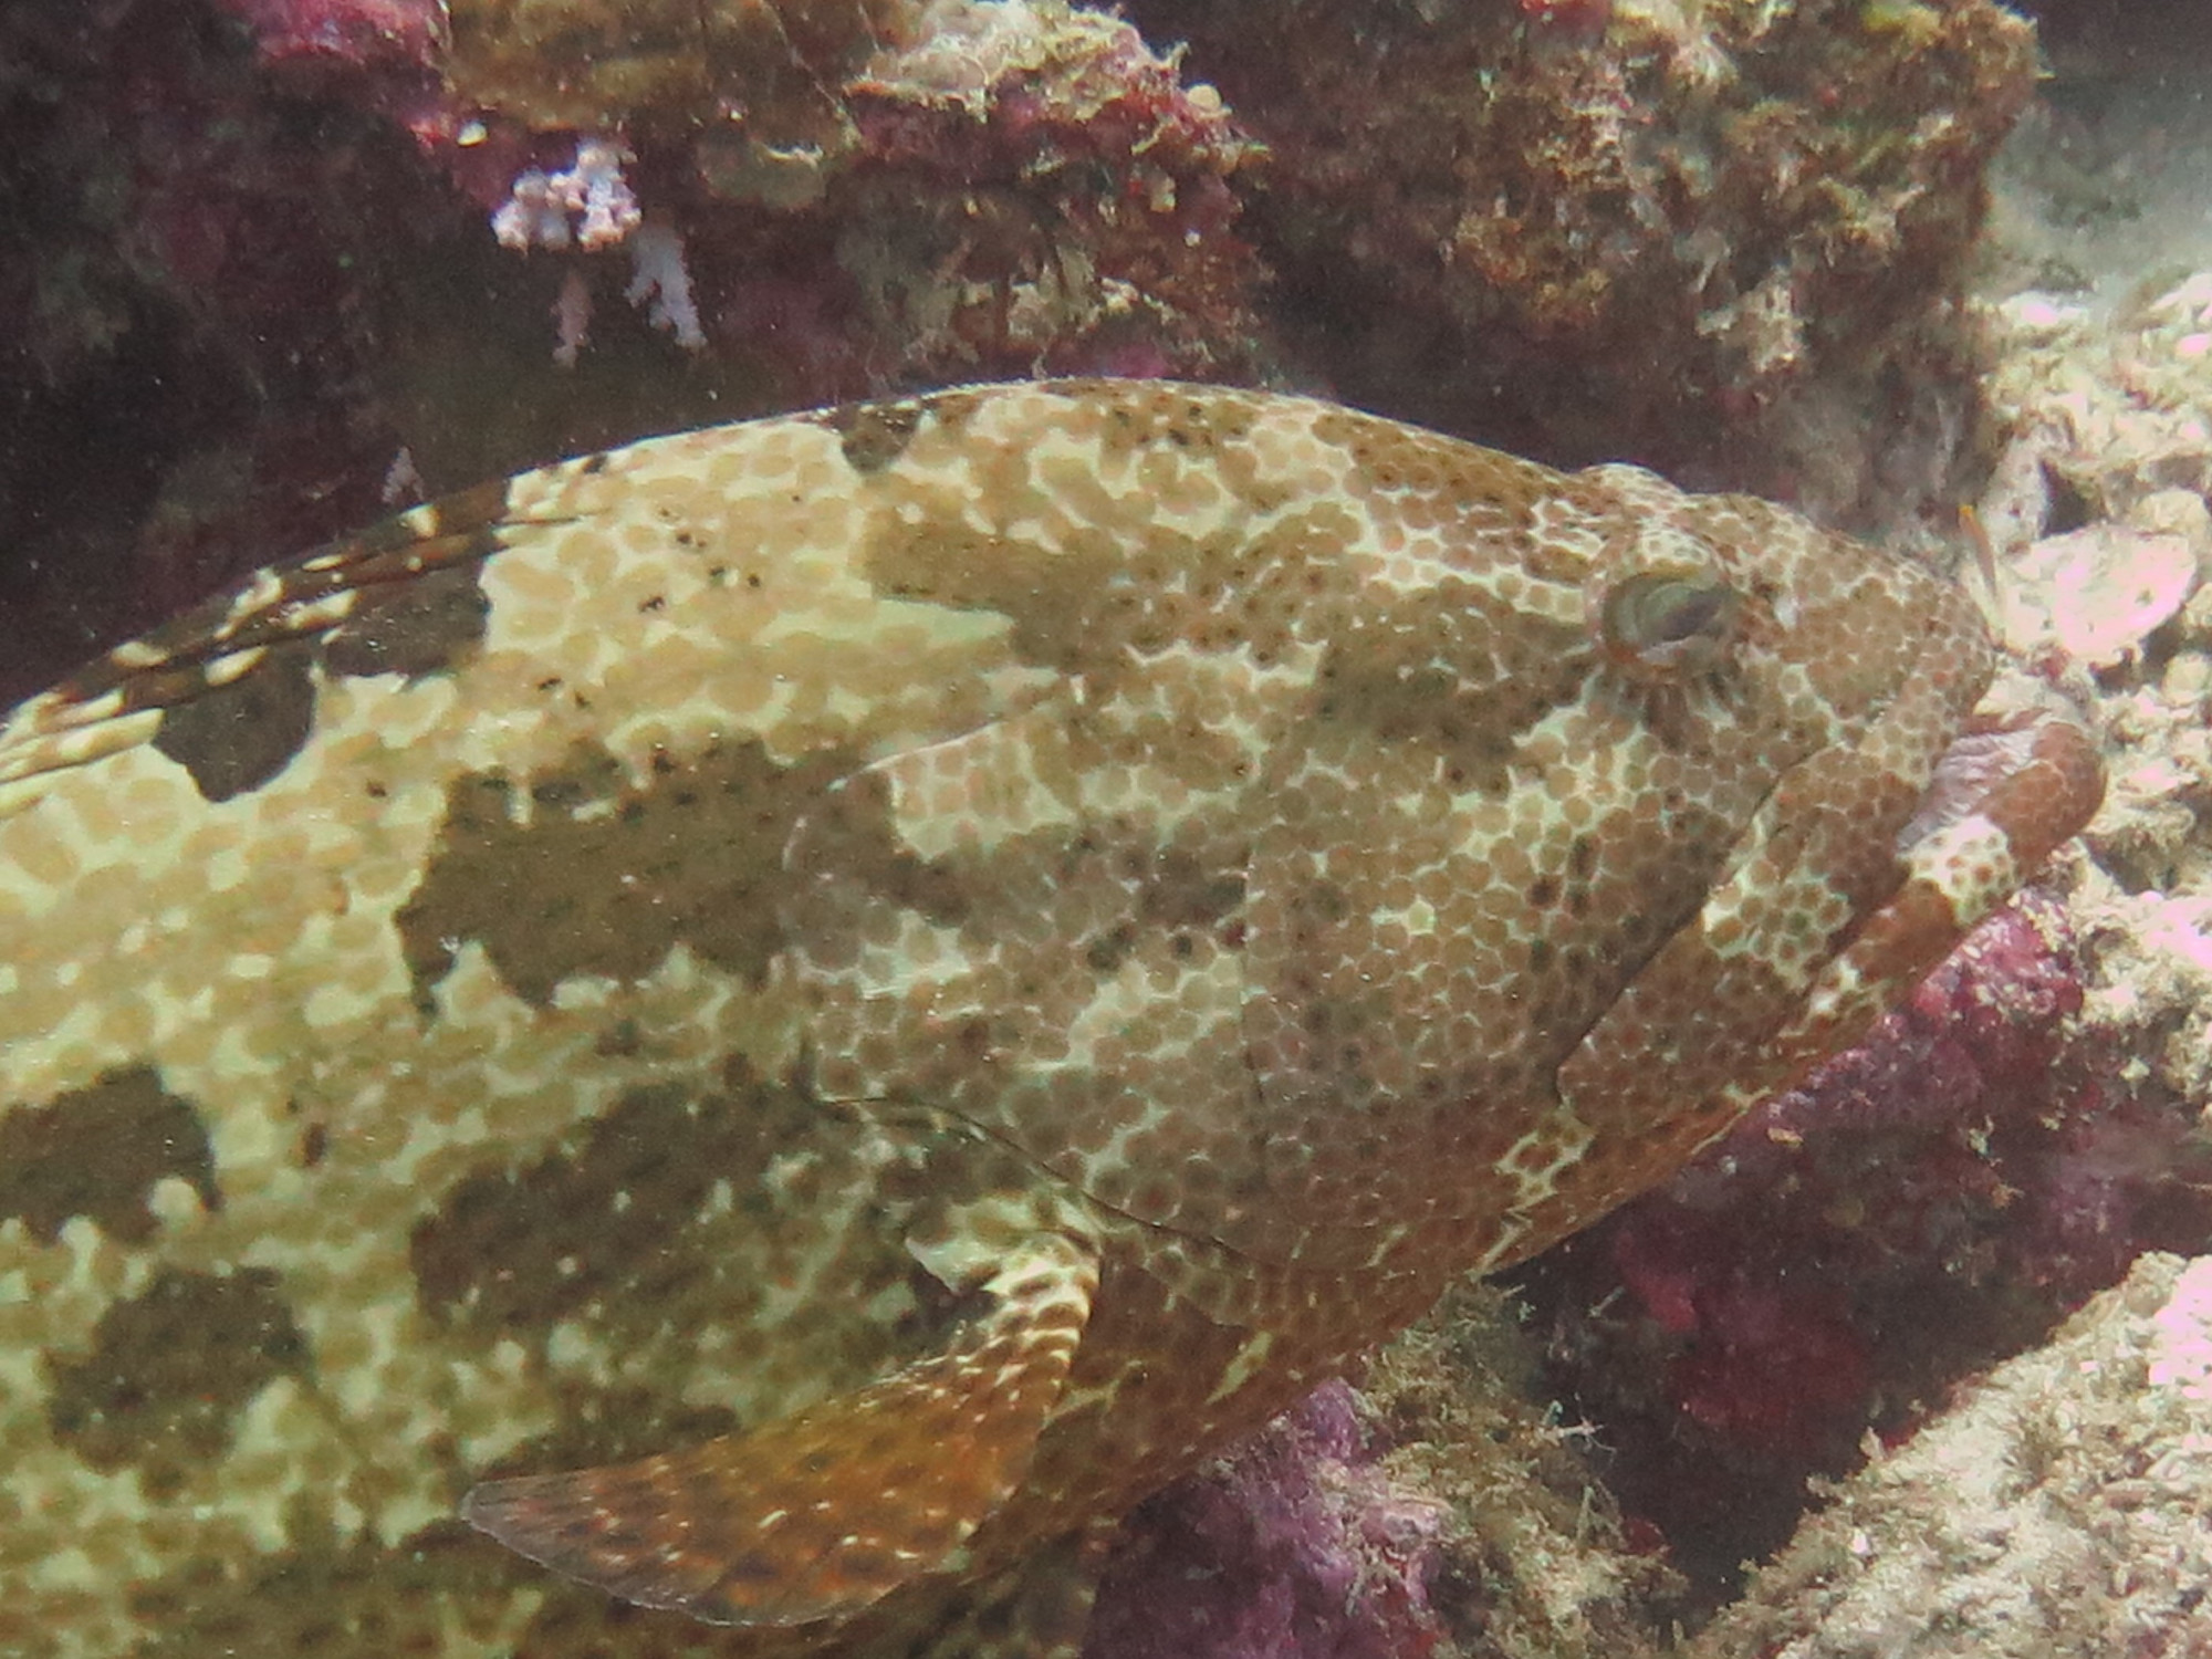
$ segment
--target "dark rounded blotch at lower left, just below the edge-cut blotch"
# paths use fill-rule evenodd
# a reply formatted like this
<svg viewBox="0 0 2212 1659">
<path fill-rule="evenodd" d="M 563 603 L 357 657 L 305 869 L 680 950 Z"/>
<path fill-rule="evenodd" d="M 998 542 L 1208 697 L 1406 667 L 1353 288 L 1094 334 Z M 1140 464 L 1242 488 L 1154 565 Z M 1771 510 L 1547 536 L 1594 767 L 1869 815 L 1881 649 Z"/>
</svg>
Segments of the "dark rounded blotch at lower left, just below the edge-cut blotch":
<svg viewBox="0 0 2212 1659">
<path fill-rule="evenodd" d="M 307 1345 L 268 1267 L 164 1270 L 115 1303 L 84 1360 L 53 1360 L 53 1438 L 93 1469 L 137 1467 L 150 1495 L 230 1444 L 232 1413 L 305 1367 Z"/>
</svg>

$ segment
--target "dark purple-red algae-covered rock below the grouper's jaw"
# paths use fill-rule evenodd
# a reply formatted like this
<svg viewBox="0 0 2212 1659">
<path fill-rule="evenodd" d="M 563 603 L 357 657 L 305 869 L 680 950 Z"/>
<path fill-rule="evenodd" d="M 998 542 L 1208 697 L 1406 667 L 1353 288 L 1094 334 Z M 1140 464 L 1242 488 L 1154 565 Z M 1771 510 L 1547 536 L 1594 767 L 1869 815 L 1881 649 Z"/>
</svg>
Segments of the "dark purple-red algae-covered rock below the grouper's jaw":
<svg viewBox="0 0 2212 1659">
<path fill-rule="evenodd" d="M 1608 1484 L 1712 1584 L 1783 1542 L 1805 1475 L 2212 1230 L 2197 1110 L 2084 1024 L 2090 958 L 2066 907 L 2024 898 L 1860 1048 L 1526 1274 Z"/>
</svg>

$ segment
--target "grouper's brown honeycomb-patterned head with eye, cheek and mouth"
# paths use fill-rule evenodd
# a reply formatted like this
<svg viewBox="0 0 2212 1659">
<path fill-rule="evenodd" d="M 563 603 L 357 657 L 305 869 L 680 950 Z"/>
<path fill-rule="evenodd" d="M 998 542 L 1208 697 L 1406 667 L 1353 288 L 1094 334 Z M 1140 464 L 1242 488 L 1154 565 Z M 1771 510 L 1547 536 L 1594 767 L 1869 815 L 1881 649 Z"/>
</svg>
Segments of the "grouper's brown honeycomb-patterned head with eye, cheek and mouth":
<svg viewBox="0 0 2212 1659">
<path fill-rule="evenodd" d="M 1854 1042 L 2099 801 L 2081 728 L 1975 714 L 1964 588 L 1787 509 L 1380 434 L 1352 489 L 1425 529 L 1276 752 L 1256 1250 L 1540 1250 Z"/>
</svg>

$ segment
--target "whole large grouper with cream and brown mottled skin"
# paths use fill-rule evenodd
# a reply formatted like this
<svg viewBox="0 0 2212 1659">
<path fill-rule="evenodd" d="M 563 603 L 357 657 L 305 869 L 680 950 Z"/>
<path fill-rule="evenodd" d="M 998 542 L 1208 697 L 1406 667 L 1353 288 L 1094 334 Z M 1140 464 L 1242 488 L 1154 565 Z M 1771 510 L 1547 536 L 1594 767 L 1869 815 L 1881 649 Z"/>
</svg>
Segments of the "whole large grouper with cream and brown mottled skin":
<svg viewBox="0 0 2212 1659">
<path fill-rule="evenodd" d="M 2062 723 L 1916 818 L 1986 675 L 1781 509 L 1137 383 L 274 571 L 0 728 L 0 1652 L 1071 1650 L 2079 825 Z"/>
</svg>

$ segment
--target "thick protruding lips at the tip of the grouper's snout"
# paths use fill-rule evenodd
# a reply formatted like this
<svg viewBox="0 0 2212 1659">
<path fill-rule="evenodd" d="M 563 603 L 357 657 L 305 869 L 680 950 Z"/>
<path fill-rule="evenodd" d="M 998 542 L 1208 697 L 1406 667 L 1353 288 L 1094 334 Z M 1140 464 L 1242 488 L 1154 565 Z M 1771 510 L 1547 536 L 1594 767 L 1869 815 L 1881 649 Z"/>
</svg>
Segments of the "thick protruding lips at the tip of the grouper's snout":
<svg viewBox="0 0 2212 1659">
<path fill-rule="evenodd" d="M 1966 818 L 2004 832 L 2015 867 L 2035 869 L 2104 801 L 2097 743 L 2070 714 L 2031 710 L 1966 721 L 1936 761 L 1920 807 L 1898 832 L 1898 856 Z"/>
</svg>

